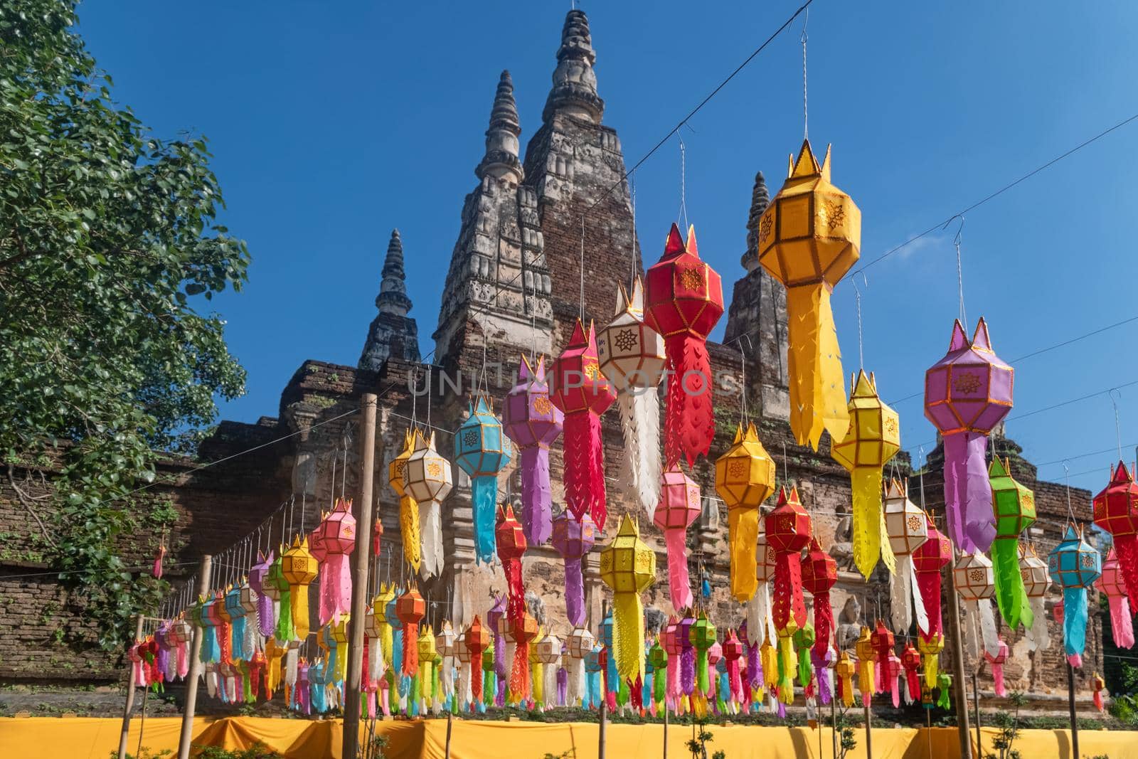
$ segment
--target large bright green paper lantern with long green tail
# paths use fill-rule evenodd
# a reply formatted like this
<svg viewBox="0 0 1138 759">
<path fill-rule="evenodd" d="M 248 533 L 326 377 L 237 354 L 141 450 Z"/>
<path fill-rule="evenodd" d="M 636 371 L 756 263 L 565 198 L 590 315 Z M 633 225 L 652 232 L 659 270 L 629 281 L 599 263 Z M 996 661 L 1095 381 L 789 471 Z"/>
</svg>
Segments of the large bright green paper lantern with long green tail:
<svg viewBox="0 0 1138 759">
<path fill-rule="evenodd" d="M 1021 621 L 1024 627 L 1031 627 L 1034 618 L 1020 577 L 1020 534 L 1036 521 L 1036 496 L 1012 478 L 1007 459 L 993 457 L 988 478 L 996 514 L 996 539 L 992 542 L 996 602 L 1012 629 Z"/>
</svg>

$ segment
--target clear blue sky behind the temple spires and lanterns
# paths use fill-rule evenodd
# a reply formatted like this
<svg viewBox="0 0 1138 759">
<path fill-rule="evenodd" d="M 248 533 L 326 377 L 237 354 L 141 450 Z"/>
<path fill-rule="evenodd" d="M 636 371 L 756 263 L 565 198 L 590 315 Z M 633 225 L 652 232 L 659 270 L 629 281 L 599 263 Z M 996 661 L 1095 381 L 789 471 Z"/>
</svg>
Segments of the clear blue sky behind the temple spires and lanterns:
<svg viewBox="0 0 1138 759">
<path fill-rule="evenodd" d="M 584 5 L 604 121 L 619 131 L 628 165 L 798 5 Z M 230 346 L 249 372 L 248 394 L 223 406 L 225 418 L 275 415 L 280 390 L 305 358 L 355 364 L 393 226 L 406 248 L 421 347 L 434 347 L 442 272 L 462 198 L 477 181 L 498 73 L 513 75 L 525 145 L 539 124 L 568 7 L 80 7 L 80 31 L 114 76 L 116 97 L 158 135 L 188 129 L 209 138 L 224 222 L 248 241 L 248 287 L 212 306 L 229 320 Z M 817 0 L 808 31 L 810 135 L 818 150 L 834 145 L 833 180 L 861 208 L 864 261 L 1138 113 L 1138 8 L 1123 0 Z M 754 172 L 774 192 L 802 138 L 800 32 L 801 23 L 784 32 L 683 130 L 688 218 L 701 255 L 728 283 L 742 274 Z M 968 319 L 988 319 L 1004 358 L 1138 315 L 1136 142 L 1132 122 L 967 215 Z M 635 183 L 637 230 L 654 259 L 679 207 L 675 139 Z M 866 272 L 865 365 L 887 401 L 917 393 L 947 347 L 957 314 L 956 225 Z M 856 370 L 849 281 L 834 307 L 847 370 Z M 1106 394 L 1014 415 L 1138 379 L 1136 337 L 1132 322 L 1017 365 L 1008 431 L 1031 459 L 1057 462 L 1115 445 Z M 934 438 L 920 398 L 897 409 L 902 445 Z M 1121 391 L 1119 412 L 1122 444 L 1138 442 L 1138 386 Z M 1133 448 L 1123 454 L 1133 457 Z M 1072 460 L 1072 485 L 1097 490 L 1112 459 Z M 1063 467 L 1049 463 L 1040 476 L 1062 480 Z"/>
</svg>

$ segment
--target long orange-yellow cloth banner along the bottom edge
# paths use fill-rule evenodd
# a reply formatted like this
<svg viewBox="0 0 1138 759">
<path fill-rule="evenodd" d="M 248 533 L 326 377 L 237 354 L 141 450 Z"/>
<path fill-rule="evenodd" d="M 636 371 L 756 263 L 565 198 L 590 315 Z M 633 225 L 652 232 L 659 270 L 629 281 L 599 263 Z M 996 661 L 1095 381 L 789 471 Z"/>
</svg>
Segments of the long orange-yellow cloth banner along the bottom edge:
<svg viewBox="0 0 1138 759">
<path fill-rule="evenodd" d="M 142 745 L 157 753 L 176 751 L 181 720 L 158 717 L 146 720 Z M 140 720 L 131 721 L 127 746 L 133 754 L 139 744 Z M 118 748 L 122 720 L 89 717 L 0 718 L 0 757 L 20 759 L 107 759 Z M 725 751 L 731 759 L 828 759 L 831 734 L 827 728 L 729 727 L 709 725 L 714 734 L 709 748 Z M 377 734 L 388 739 L 388 759 L 443 759 L 446 746 L 446 720 L 394 720 L 376 723 Z M 510 735 L 505 735 L 509 732 Z M 668 752 L 679 759 L 687 754 L 684 742 L 691 727 L 671 726 Z M 857 729 L 857 749 L 848 759 L 865 759 L 865 735 Z M 818 739 L 822 739 L 819 753 Z M 984 750 L 991 751 L 996 731 L 983 731 Z M 270 717 L 230 717 L 195 719 L 193 744 L 246 749 L 262 742 L 287 759 L 340 759 L 343 723 L 339 719 L 279 719 Z M 1111 759 L 1138 759 L 1138 734 L 1133 732 L 1082 731 L 1080 753 L 1106 754 Z M 596 758 L 597 726 L 591 723 L 501 723 L 456 719 L 451 735 L 452 759 L 541 759 L 546 753 L 566 751 L 576 759 Z M 1071 757 L 1067 731 L 1023 731 L 1015 742 L 1023 756 Z M 621 759 L 658 759 L 663 752 L 662 725 L 615 725 L 608 727 L 608 754 Z M 973 750 L 974 745 L 973 745 Z M 874 759 L 958 759 L 957 732 L 951 727 L 932 729 L 874 728 Z"/>
</svg>

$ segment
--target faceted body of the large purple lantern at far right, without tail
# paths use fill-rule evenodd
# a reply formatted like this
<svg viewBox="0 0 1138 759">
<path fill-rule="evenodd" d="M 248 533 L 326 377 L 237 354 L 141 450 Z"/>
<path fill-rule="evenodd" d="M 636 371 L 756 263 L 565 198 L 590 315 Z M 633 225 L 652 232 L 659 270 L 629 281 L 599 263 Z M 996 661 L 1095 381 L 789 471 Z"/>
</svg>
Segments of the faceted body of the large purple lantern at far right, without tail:
<svg viewBox="0 0 1138 759">
<path fill-rule="evenodd" d="M 948 353 L 925 372 L 925 416 L 941 435 L 987 435 L 1012 409 L 1014 370 L 992 350 L 983 317 L 968 341 L 957 320 Z"/>
</svg>

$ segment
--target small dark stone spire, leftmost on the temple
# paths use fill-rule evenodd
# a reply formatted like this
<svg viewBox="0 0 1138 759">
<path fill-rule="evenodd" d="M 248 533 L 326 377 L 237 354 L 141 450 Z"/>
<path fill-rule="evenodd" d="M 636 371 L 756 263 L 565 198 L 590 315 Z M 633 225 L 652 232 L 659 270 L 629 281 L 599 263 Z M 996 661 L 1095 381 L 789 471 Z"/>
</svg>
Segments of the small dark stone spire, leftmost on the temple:
<svg viewBox="0 0 1138 759">
<path fill-rule="evenodd" d="M 379 371 L 388 358 L 419 361 L 419 327 L 407 316 L 407 274 L 403 270 L 403 240 L 399 230 L 391 230 L 384 261 L 384 281 L 376 296 L 379 314 L 368 329 L 368 339 L 360 354 L 360 369 Z"/>
</svg>

